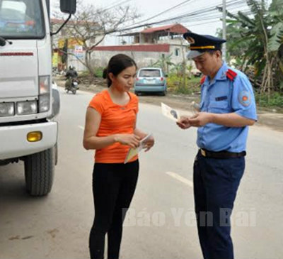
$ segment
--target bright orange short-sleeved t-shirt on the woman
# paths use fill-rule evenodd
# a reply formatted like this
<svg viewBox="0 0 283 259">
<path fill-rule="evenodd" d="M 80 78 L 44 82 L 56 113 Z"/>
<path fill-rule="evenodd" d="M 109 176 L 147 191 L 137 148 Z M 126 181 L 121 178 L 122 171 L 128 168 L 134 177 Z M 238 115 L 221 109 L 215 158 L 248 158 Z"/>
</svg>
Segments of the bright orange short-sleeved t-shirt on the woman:
<svg viewBox="0 0 283 259">
<path fill-rule="evenodd" d="M 128 92 L 129 102 L 125 105 L 114 104 L 108 90 L 96 94 L 89 107 L 96 109 L 101 115 L 100 126 L 96 136 L 105 137 L 113 134 L 132 134 L 139 111 L 139 99 Z M 106 148 L 96 150 L 95 161 L 103 163 L 124 162 L 129 151 L 128 145 L 114 143 Z M 137 155 L 129 162 L 137 160 Z"/>
</svg>

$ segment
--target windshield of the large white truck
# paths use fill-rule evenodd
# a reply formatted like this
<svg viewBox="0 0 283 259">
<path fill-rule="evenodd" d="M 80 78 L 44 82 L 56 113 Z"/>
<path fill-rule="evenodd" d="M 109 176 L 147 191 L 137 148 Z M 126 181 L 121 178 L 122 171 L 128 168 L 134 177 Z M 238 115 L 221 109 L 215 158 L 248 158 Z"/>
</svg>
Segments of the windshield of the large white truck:
<svg viewBox="0 0 283 259">
<path fill-rule="evenodd" d="M 0 0 L 0 36 L 4 38 L 43 38 L 40 0 Z"/>
</svg>

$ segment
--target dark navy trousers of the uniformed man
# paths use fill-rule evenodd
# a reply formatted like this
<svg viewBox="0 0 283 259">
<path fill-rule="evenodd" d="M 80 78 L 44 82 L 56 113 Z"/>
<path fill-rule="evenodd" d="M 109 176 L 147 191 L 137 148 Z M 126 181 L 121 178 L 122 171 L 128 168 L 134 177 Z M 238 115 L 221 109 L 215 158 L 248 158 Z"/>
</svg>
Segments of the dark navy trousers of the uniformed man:
<svg viewBox="0 0 283 259">
<path fill-rule="evenodd" d="M 204 158 L 194 165 L 195 212 L 204 259 L 233 259 L 230 216 L 245 158 Z"/>
</svg>

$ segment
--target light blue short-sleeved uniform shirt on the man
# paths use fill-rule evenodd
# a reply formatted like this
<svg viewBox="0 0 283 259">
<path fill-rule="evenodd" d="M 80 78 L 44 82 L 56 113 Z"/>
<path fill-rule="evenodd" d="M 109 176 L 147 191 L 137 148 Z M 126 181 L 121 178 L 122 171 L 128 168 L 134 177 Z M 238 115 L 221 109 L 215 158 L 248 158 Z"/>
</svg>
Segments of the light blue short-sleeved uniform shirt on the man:
<svg viewBox="0 0 283 259">
<path fill-rule="evenodd" d="M 200 111 L 214 114 L 235 112 L 256 121 L 255 97 L 248 77 L 233 69 L 237 75 L 234 79 L 229 79 L 226 75 L 229 69 L 231 68 L 224 62 L 212 82 L 209 82 L 209 77 L 205 79 L 201 90 Z M 248 126 L 226 127 L 208 123 L 198 128 L 197 145 L 215 152 L 226 150 L 238 153 L 246 150 L 247 136 Z"/>
</svg>

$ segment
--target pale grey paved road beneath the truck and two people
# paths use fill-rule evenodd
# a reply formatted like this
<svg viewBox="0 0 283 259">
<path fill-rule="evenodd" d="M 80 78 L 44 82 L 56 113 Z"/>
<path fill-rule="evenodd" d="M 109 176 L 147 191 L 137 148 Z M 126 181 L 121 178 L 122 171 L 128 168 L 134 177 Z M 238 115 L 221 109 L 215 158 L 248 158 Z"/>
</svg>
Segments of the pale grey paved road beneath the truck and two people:
<svg viewBox="0 0 283 259">
<path fill-rule="evenodd" d="M 93 153 L 81 143 L 91 96 L 61 94 L 59 163 L 50 195 L 25 194 L 22 163 L 0 167 L 0 258 L 88 258 Z M 196 131 L 181 131 L 150 104 L 140 105 L 138 120 L 139 128 L 154 133 L 156 146 L 140 155 L 121 258 L 201 258 L 192 197 Z M 282 258 L 282 137 L 267 127 L 250 128 L 233 212 L 236 258 Z"/>
</svg>

